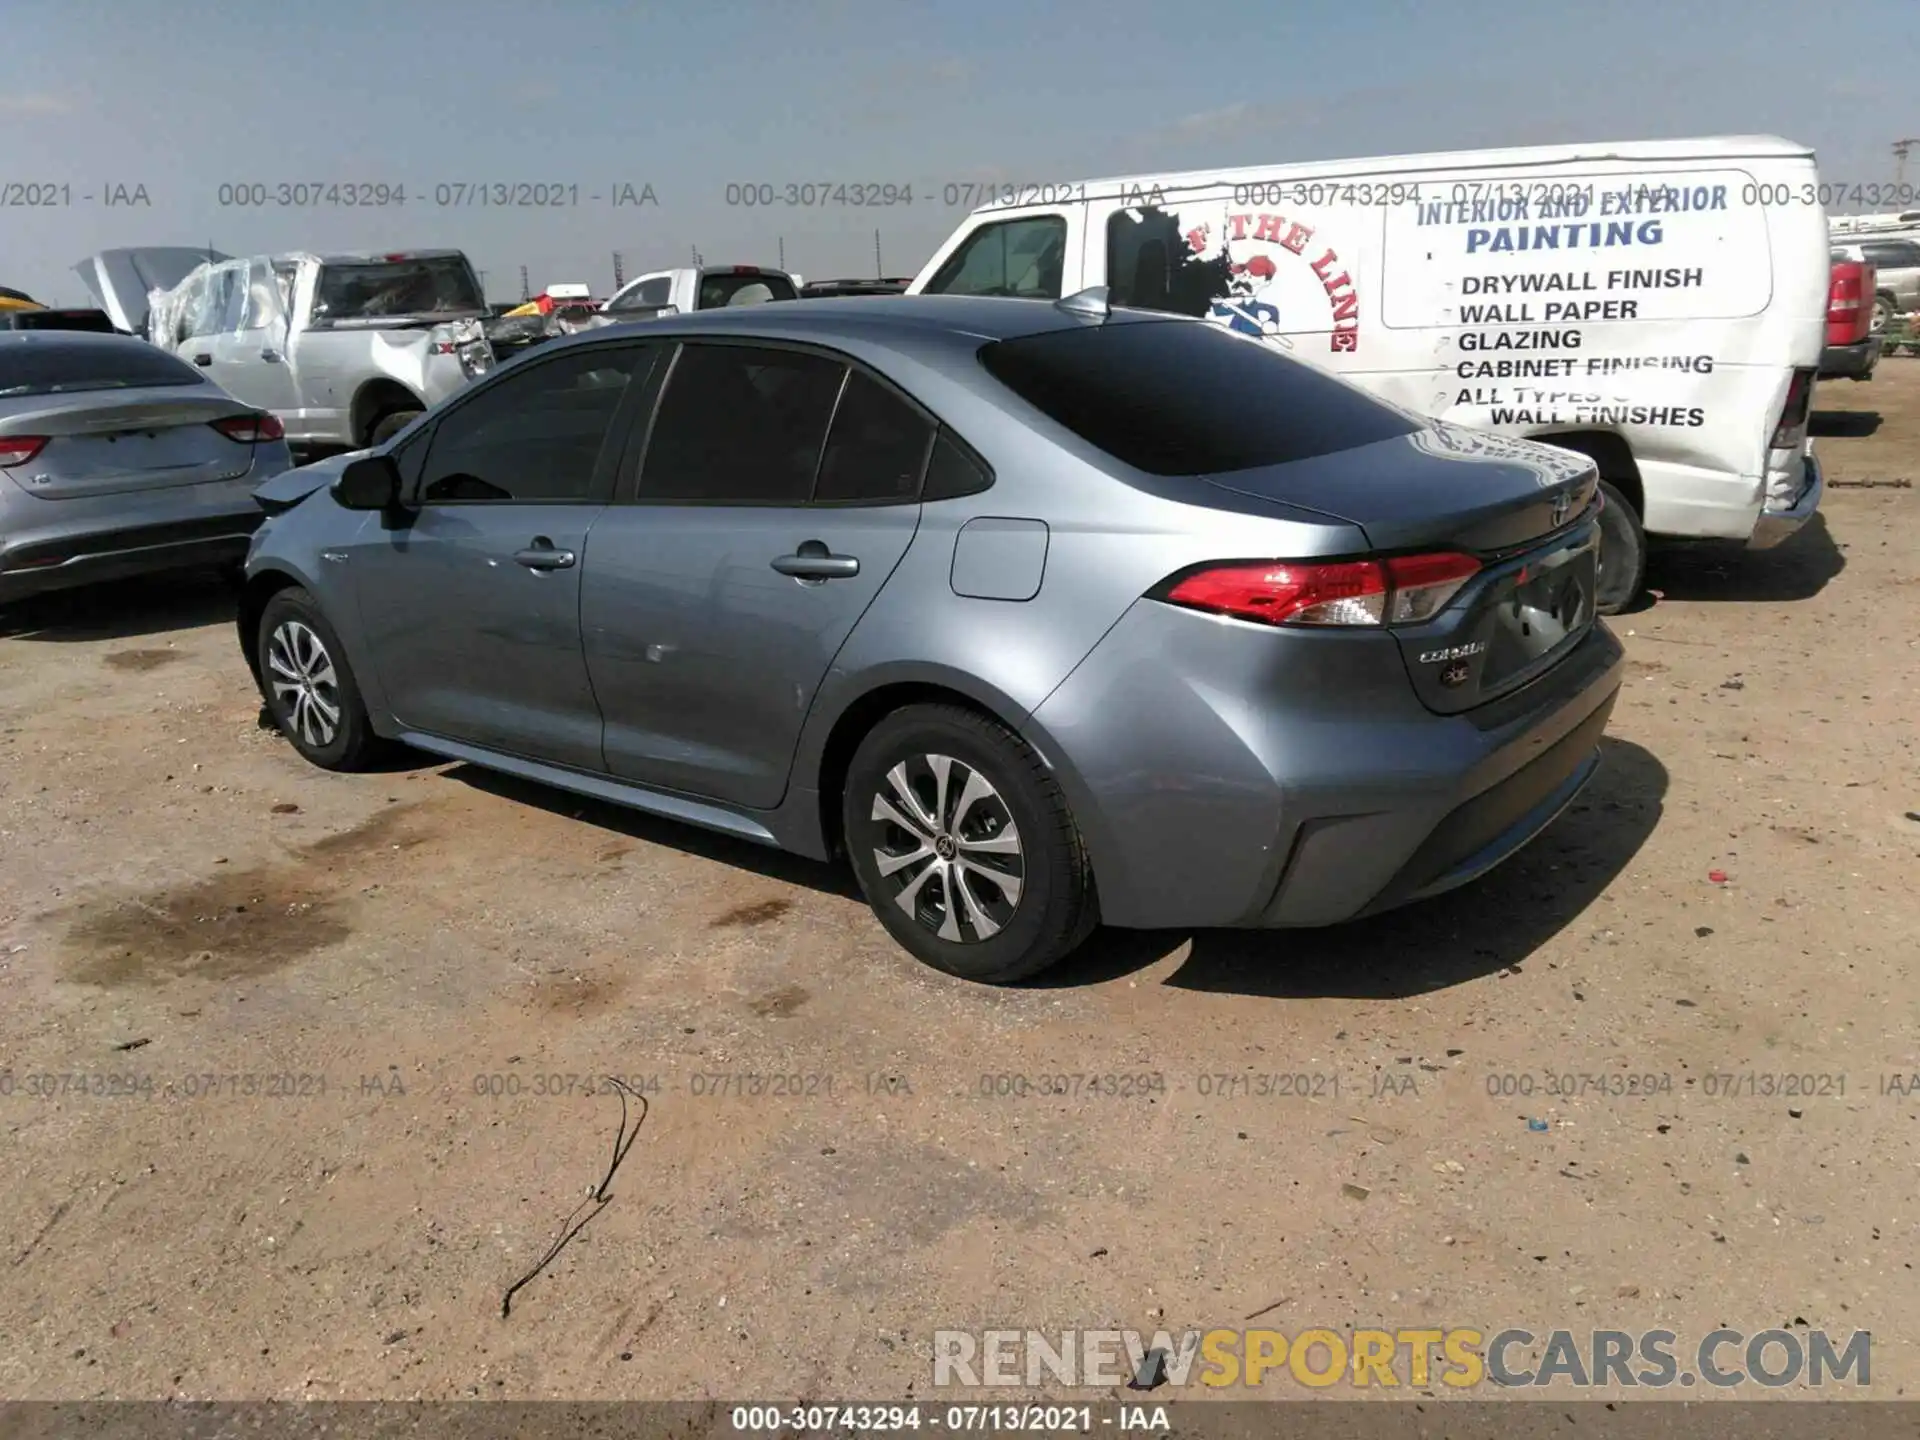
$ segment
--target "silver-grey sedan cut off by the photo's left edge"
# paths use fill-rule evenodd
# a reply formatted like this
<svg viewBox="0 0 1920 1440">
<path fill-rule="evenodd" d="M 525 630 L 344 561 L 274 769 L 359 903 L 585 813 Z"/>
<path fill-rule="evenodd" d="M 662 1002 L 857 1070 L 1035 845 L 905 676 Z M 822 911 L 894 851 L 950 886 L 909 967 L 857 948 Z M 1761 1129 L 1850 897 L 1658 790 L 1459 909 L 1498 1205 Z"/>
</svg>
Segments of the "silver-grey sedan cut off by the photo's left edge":
<svg viewBox="0 0 1920 1440">
<path fill-rule="evenodd" d="M 0 603 L 238 564 L 280 422 L 144 340 L 0 332 Z"/>
</svg>

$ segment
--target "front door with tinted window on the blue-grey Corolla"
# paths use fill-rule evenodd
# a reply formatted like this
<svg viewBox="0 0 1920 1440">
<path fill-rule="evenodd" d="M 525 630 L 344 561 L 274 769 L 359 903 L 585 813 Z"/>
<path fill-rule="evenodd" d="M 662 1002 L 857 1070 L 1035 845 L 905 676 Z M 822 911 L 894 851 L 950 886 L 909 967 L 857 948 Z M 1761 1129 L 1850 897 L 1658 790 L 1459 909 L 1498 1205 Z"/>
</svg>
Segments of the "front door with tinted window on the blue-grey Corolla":
<svg viewBox="0 0 1920 1440">
<path fill-rule="evenodd" d="M 580 576 L 628 411 L 657 351 L 568 349 L 476 386 L 420 442 L 419 509 L 348 555 L 361 626 L 401 726 L 601 768 Z"/>
</svg>

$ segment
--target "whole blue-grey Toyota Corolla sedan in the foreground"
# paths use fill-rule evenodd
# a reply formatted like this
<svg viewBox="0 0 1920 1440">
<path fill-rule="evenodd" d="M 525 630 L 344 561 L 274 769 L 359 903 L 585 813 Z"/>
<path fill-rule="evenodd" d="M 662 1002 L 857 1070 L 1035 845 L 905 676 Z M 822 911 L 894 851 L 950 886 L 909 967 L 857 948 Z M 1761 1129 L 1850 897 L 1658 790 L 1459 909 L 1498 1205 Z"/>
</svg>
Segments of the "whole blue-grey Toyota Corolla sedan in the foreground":
<svg viewBox="0 0 1920 1440">
<path fill-rule="evenodd" d="M 1588 781 L 1596 472 L 1098 292 L 555 340 L 261 488 L 240 643 L 382 741 L 814 858 L 1014 981 L 1452 889 Z"/>
</svg>

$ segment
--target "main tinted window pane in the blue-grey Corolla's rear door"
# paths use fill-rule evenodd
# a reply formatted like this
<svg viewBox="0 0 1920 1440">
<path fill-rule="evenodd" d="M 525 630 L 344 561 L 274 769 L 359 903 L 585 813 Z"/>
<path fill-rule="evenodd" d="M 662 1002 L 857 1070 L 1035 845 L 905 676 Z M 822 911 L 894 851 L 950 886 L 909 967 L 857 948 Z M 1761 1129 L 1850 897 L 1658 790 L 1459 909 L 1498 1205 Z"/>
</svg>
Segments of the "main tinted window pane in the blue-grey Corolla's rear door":
<svg viewBox="0 0 1920 1440">
<path fill-rule="evenodd" d="M 643 501 L 804 505 L 847 367 L 756 346 L 684 346 L 639 476 Z"/>
</svg>

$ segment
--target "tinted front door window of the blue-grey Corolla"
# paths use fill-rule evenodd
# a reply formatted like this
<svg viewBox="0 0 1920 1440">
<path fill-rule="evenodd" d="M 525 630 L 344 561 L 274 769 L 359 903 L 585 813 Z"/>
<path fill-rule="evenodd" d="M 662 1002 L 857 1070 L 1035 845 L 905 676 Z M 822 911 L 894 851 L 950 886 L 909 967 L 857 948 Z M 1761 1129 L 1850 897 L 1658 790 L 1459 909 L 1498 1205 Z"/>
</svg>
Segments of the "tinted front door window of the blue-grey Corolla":
<svg viewBox="0 0 1920 1440">
<path fill-rule="evenodd" d="M 620 397 L 651 353 L 595 346 L 486 386 L 434 426 L 422 503 L 591 499 Z"/>
</svg>

